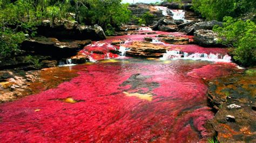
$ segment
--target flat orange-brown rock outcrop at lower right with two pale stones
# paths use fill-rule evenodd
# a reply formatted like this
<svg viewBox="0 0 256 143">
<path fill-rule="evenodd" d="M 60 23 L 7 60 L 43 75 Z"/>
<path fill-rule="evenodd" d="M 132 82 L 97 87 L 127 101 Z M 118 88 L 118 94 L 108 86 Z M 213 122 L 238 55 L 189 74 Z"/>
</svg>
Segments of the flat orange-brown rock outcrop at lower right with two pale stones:
<svg viewBox="0 0 256 143">
<path fill-rule="evenodd" d="M 211 123 L 220 142 L 256 142 L 256 70 L 210 81 L 208 99 L 217 109 Z"/>
</svg>

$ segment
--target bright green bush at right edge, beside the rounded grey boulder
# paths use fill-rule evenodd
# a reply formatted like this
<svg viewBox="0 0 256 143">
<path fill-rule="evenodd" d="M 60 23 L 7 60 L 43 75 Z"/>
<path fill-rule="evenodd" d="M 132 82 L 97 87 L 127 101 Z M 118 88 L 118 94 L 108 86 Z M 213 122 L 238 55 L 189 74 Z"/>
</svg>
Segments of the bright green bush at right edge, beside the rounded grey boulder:
<svg viewBox="0 0 256 143">
<path fill-rule="evenodd" d="M 223 27 L 214 27 L 220 37 L 224 37 L 221 44 L 235 47 L 234 60 L 243 66 L 256 64 L 256 25 L 251 20 L 225 17 Z"/>
</svg>

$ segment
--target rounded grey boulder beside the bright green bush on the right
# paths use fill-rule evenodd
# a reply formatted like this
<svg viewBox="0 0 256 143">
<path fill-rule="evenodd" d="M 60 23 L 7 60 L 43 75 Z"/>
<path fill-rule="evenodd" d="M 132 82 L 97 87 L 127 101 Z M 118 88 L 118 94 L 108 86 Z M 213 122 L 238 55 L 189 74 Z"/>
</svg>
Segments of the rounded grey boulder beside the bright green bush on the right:
<svg viewBox="0 0 256 143">
<path fill-rule="evenodd" d="M 212 30 L 198 30 L 194 32 L 194 42 L 198 45 L 205 47 L 220 46 L 217 41 L 218 34 Z"/>
</svg>

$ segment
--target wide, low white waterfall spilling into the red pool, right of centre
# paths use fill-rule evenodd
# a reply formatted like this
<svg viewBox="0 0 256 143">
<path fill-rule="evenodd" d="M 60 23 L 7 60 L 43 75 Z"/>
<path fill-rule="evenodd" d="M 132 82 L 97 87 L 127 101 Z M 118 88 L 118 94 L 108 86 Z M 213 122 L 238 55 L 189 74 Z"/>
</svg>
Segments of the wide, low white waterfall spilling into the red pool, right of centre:
<svg viewBox="0 0 256 143">
<path fill-rule="evenodd" d="M 231 62 L 231 56 L 222 54 L 206 53 L 186 53 L 181 51 L 166 51 L 161 60 L 166 59 L 184 59 L 184 60 L 204 60 L 215 62 Z"/>
</svg>

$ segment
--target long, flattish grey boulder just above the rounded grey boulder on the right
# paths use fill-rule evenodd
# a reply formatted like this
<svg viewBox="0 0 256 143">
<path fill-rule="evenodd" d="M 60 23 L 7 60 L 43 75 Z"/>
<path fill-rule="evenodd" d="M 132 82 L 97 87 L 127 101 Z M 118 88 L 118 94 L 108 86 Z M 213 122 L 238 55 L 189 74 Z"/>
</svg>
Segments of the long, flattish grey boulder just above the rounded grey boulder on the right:
<svg viewBox="0 0 256 143">
<path fill-rule="evenodd" d="M 187 32 L 187 35 L 193 35 L 194 31 L 197 30 L 212 30 L 212 28 L 215 26 L 222 26 L 222 22 L 217 22 L 216 20 L 212 20 L 210 22 L 199 22 L 195 23 L 192 26 L 186 26 L 185 27 L 185 32 Z"/>
</svg>

